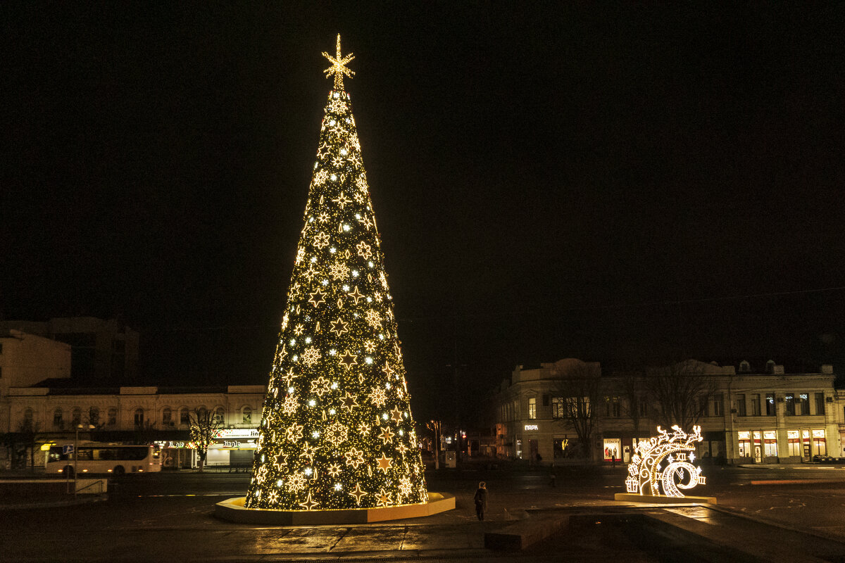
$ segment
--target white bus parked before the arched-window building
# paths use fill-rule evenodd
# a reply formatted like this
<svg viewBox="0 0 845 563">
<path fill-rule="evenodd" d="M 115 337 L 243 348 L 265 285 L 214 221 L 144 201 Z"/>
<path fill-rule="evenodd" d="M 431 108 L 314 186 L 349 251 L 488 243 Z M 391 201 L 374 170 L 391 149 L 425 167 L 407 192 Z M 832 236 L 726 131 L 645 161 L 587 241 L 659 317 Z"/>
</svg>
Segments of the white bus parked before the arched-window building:
<svg viewBox="0 0 845 563">
<path fill-rule="evenodd" d="M 68 448 L 68 446 L 70 446 Z M 66 451 L 70 450 L 67 453 Z M 47 453 L 47 474 L 74 476 L 73 446 L 51 446 Z M 161 471 L 161 451 L 158 446 L 120 446 L 88 442 L 77 446 L 79 474 L 150 473 Z"/>
</svg>

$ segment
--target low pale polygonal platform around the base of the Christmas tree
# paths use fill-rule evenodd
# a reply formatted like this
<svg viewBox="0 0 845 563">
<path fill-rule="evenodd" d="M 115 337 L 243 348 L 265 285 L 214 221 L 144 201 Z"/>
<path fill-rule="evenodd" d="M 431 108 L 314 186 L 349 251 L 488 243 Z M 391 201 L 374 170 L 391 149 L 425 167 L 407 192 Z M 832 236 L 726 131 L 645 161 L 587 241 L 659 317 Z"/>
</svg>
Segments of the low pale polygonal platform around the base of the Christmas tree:
<svg viewBox="0 0 845 563">
<path fill-rule="evenodd" d="M 314 526 L 319 524 L 362 524 L 432 516 L 455 508 L 455 495 L 428 493 L 428 502 L 412 505 L 379 506 L 379 508 L 347 508 L 342 510 L 277 510 L 246 508 L 246 497 L 238 496 L 218 502 L 215 516 L 229 522 L 276 524 L 278 526 Z"/>
</svg>

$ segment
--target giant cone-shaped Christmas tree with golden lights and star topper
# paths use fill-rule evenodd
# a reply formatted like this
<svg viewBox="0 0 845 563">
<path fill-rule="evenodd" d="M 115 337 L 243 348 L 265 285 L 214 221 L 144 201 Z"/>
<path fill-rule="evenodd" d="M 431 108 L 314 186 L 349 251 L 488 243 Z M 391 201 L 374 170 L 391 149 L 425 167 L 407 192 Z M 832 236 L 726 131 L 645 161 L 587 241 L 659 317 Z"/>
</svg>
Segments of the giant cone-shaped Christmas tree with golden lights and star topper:
<svg viewBox="0 0 845 563">
<path fill-rule="evenodd" d="M 337 53 L 245 506 L 428 500 L 367 175 Z"/>
</svg>

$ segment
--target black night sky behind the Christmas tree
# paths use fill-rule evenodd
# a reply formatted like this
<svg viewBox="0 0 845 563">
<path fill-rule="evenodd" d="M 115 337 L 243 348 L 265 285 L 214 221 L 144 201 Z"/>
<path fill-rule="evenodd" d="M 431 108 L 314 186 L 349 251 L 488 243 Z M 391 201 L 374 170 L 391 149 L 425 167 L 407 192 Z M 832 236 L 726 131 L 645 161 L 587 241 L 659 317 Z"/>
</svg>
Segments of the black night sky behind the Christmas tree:
<svg viewBox="0 0 845 563">
<path fill-rule="evenodd" d="M 423 416 L 455 363 L 466 403 L 568 356 L 845 367 L 841 3 L 378 5 L 3 3 L 0 314 L 266 382 L 340 32 Z"/>
</svg>

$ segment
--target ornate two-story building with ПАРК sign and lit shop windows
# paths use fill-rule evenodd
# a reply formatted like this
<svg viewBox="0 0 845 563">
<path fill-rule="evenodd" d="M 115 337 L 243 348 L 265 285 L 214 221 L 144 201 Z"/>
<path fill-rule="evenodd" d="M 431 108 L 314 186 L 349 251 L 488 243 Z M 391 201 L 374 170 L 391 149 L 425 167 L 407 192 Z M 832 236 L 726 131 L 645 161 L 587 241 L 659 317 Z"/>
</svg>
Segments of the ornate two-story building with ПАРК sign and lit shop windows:
<svg viewBox="0 0 845 563">
<path fill-rule="evenodd" d="M 732 365 L 688 360 L 664 374 L 695 377 L 706 389 L 706 402 L 695 407 L 704 436 L 697 455 L 714 463 L 845 457 L 845 392 L 833 387 L 832 367 L 786 374 L 771 362 L 766 371 L 753 373 L 746 362 L 738 373 Z M 587 382 L 577 397 L 571 383 L 562 382 L 572 373 Z M 629 461 L 636 443 L 656 435 L 662 419 L 649 377 L 605 375 L 600 365 L 573 359 L 517 366 L 492 397 L 496 455 L 540 463 Z M 572 414 L 579 409 L 590 418 L 586 440 L 584 421 Z"/>
</svg>

